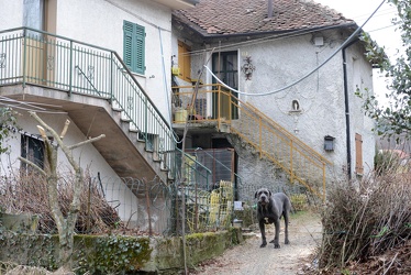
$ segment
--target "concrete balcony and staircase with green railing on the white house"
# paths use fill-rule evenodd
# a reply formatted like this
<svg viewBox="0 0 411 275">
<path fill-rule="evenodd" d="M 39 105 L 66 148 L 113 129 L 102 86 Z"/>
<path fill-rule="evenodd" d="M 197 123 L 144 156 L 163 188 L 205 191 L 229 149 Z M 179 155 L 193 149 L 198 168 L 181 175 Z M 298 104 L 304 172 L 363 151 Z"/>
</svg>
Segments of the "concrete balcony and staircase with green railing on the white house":
<svg viewBox="0 0 411 275">
<path fill-rule="evenodd" d="M 120 177 L 162 182 L 176 175 L 167 120 L 119 55 L 29 28 L 0 32 L 0 95 L 58 107 Z"/>
</svg>

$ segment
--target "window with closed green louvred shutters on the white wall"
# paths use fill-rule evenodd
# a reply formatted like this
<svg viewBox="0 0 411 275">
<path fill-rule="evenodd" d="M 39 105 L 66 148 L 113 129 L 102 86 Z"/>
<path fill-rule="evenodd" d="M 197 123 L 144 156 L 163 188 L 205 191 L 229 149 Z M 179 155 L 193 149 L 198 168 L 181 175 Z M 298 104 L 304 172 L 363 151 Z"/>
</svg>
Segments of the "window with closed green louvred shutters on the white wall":
<svg viewBox="0 0 411 275">
<path fill-rule="evenodd" d="M 123 23 L 123 61 L 137 74 L 145 72 L 145 29 L 138 24 Z"/>
</svg>

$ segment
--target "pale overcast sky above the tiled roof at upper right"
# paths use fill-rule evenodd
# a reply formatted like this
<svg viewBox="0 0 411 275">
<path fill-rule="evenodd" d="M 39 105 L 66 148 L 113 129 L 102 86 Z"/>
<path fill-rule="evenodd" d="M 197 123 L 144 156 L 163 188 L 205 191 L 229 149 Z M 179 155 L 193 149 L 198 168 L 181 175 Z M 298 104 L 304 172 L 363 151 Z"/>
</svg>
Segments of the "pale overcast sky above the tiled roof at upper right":
<svg viewBox="0 0 411 275">
<path fill-rule="evenodd" d="M 354 20 L 357 25 L 362 25 L 378 8 L 382 0 L 314 0 L 323 6 L 343 13 L 347 19 Z M 398 50 L 401 48 L 400 33 L 396 31 L 396 26 L 391 20 L 396 16 L 396 7 L 388 3 L 387 0 L 373 15 L 373 18 L 364 25 L 364 30 L 368 32 L 379 46 L 385 46 L 386 54 L 390 58 L 395 58 Z M 388 105 L 385 99 L 387 79 L 374 72 L 373 86 L 374 91 L 379 98 L 379 102 L 384 106 Z"/>
</svg>

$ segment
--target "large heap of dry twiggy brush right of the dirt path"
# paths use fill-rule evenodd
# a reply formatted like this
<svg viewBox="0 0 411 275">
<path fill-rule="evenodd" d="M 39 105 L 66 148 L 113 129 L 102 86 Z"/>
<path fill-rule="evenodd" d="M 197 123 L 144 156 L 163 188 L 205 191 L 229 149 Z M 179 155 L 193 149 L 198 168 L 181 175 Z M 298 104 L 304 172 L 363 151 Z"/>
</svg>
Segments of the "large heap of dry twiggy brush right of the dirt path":
<svg viewBox="0 0 411 275">
<path fill-rule="evenodd" d="M 386 174 L 364 179 L 359 186 L 332 187 L 322 223 L 321 268 L 347 268 L 403 248 L 402 253 L 368 268 L 378 274 L 411 273 L 411 174 Z"/>
</svg>

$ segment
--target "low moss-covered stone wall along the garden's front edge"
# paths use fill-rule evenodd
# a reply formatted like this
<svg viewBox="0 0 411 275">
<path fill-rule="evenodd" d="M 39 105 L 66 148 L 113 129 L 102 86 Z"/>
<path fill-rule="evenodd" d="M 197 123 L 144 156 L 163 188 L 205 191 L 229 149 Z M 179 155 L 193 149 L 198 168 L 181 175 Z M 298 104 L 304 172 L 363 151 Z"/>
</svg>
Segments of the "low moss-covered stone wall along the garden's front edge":
<svg viewBox="0 0 411 275">
<path fill-rule="evenodd" d="M 241 229 L 186 237 L 188 266 L 221 255 L 242 242 Z M 57 268 L 57 235 L 0 230 L 0 262 Z M 182 239 L 127 235 L 75 235 L 74 266 L 78 274 L 125 274 L 145 271 L 175 274 L 184 270 Z"/>
</svg>

